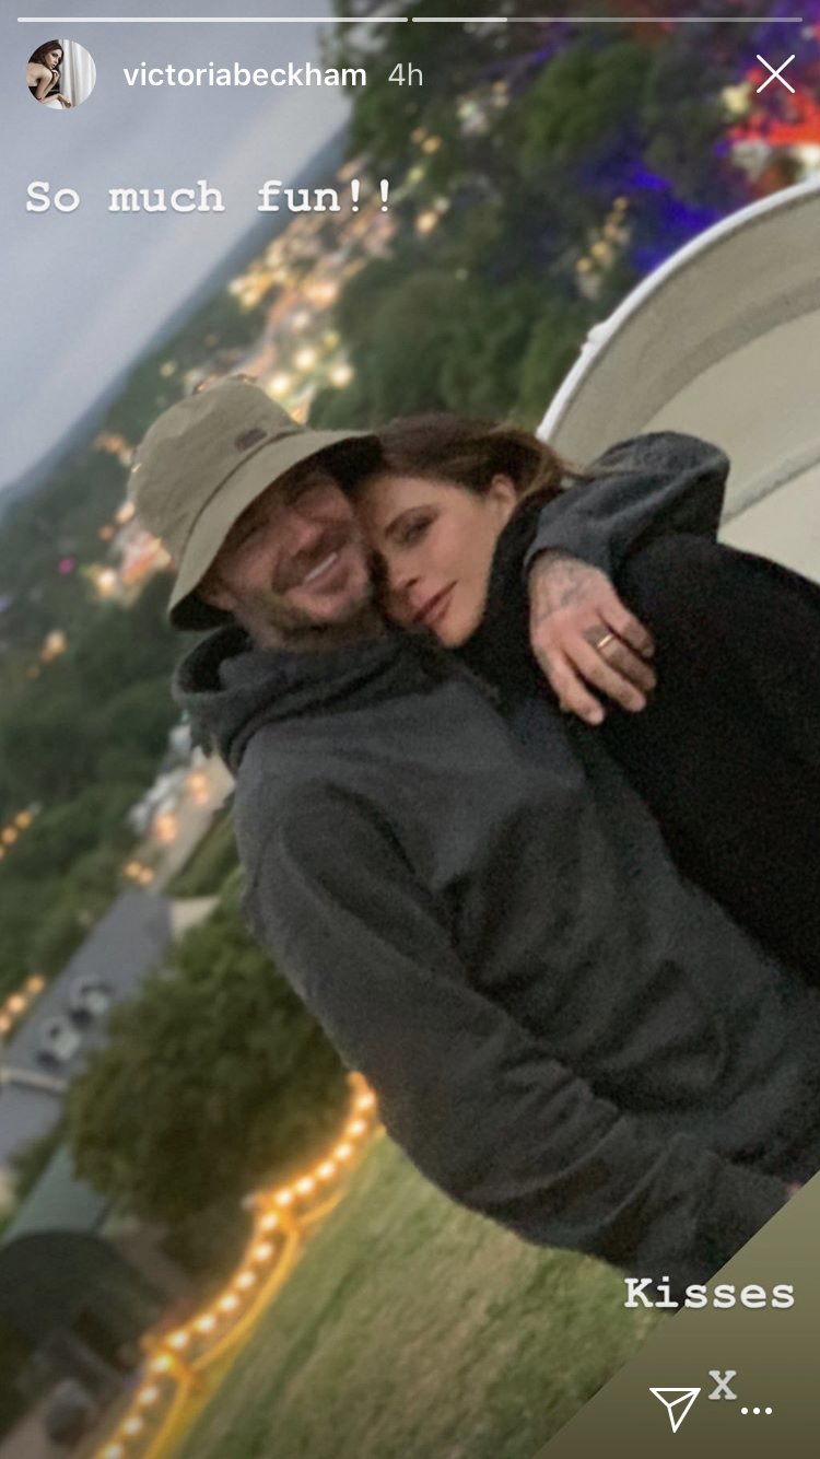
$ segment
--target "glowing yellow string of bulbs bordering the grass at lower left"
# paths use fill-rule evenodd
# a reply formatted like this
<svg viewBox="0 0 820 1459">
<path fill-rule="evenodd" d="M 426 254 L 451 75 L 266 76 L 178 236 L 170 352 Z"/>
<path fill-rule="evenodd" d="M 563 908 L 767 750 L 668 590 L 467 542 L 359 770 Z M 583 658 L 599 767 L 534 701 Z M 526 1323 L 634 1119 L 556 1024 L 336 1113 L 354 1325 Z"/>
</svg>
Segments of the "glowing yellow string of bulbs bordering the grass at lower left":
<svg viewBox="0 0 820 1459">
<path fill-rule="evenodd" d="M 341 1139 L 314 1169 L 290 1185 L 248 1198 L 254 1228 L 231 1280 L 188 1322 L 149 1335 L 146 1371 L 114 1434 L 92 1459 L 155 1459 L 201 1373 L 236 1348 L 289 1274 L 305 1227 L 321 1220 L 362 1148 L 379 1129 L 376 1097 L 360 1074 L 350 1074 L 352 1106 Z M 334 1199 L 328 1204 L 328 1196 Z"/>
</svg>

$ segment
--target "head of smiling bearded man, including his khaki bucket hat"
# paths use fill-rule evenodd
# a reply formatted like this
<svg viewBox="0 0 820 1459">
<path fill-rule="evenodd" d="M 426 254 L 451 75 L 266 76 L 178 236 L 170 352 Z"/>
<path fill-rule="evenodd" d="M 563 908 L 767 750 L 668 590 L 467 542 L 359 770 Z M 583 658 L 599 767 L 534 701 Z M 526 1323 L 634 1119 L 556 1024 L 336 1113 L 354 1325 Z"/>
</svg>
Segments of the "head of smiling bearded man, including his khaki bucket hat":
<svg viewBox="0 0 820 1459">
<path fill-rule="evenodd" d="M 343 490 L 378 460 L 375 436 L 306 430 L 245 376 L 172 406 L 147 432 L 131 487 L 179 569 L 174 626 L 241 623 L 260 648 L 290 649 L 384 632 Z"/>
</svg>

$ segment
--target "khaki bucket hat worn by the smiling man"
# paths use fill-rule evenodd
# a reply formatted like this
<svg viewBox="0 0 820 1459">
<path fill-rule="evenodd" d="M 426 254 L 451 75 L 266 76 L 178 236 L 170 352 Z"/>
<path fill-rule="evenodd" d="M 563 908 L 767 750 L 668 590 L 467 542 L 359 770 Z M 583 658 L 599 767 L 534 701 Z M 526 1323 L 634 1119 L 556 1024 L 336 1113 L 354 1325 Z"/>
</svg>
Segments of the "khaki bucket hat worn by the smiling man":
<svg viewBox="0 0 820 1459">
<path fill-rule="evenodd" d="M 140 521 L 177 563 L 168 604 L 178 629 L 209 629 L 231 616 L 197 597 L 233 522 L 292 467 L 330 452 L 340 484 L 379 460 L 365 430 L 301 426 L 254 381 L 229 376 L 171 406 L 137 448 L 128 496 Z"/>
</svg>

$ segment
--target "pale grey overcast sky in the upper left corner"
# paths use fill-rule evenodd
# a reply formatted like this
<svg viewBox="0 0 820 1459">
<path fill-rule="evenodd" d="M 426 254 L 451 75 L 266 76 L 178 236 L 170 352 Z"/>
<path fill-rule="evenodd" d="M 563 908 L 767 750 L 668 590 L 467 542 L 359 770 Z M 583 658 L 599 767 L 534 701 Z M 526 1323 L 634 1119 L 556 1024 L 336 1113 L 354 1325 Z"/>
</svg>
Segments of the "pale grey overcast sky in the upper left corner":
<svg viewBox="0 0 820 1459">
<path fill-rule="evenodd" d="M 31 13 L 42 7 L 31 6 Z M 226 0 L 172 0 L 174 15 L 225 15 Z M 250 0 L 242 15 L 327 15 L 330 0 Z M 159 15 L 156 0 L 69 0 L 63 16 Z M 7 16 L 26 15 L 10 0 Z M 41 34 L 42 32 L 42 34 Z M 255 188 L 292 179 L 343 124 L 339 89 L 276 86 L 130 88 L 123 67 L 318 63 L 317 25 L 20 25 L 1 22 L 6 139 L 3 209 L 3 365 L 0 489 L 34 465 L 146 344 L 162 320 L 255 222 Z M 25 86 L 31 53 L 54 35 L 95 58 L 96 88 L 82 107 L 54 112 Z M 12 64 L 12 58 L 15 58 Z M 13 139 L 13 140 L 12 140 Z M 117 214 L 108 188 L 222 188 L 225 213 Z M 51 194 L 73 187 L 73 213 L 26 212 L 32 179 Z M 331 181 L 331 179 L 328 179 Z"/>
</svg>

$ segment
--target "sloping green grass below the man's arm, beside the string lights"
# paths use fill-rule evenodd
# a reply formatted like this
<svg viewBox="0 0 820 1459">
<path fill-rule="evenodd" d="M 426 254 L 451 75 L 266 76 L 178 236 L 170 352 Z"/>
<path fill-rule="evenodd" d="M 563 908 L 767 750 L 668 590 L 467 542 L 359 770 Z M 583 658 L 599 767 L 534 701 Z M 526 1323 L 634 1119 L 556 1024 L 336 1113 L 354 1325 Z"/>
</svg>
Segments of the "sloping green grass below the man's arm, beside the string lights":
<svg viewBox="0 0 820 1459">
<path fill-rule="evenodd" d="M 378 1139 L 174 1459 L 533 1459 L 658 1320 L 622 1303 Z"/>
</svg>

